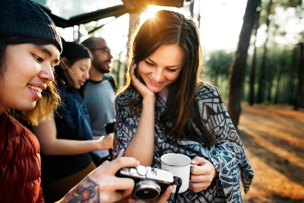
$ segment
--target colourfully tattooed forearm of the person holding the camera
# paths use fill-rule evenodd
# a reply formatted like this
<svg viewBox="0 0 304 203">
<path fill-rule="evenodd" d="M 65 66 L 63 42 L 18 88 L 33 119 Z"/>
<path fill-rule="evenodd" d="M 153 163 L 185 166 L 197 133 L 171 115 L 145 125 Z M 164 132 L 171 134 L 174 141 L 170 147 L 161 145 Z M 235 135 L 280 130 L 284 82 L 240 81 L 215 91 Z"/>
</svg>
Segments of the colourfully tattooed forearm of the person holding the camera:
<svg viewBox="0 0 304 203">
<path fill-rule="evenodd" d="M 99 186 L 88 177 L 62 199 L 61 203 L 99 203 Z"/>
</svg>

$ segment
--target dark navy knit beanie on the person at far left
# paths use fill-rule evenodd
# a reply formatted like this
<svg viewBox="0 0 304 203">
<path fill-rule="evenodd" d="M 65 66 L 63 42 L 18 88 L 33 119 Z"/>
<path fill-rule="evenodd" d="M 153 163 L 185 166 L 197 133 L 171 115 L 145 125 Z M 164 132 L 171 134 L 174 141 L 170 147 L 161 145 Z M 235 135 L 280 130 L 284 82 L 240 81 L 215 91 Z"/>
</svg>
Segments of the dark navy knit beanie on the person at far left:
<svg viewBox="0 0 304 203">
<path fill-rule="evenodd" d="M 62 51 L 51 17 L 31 0 L 0 0 L 0 37 L 9 36 L 43 39 Z"/>
</svg>

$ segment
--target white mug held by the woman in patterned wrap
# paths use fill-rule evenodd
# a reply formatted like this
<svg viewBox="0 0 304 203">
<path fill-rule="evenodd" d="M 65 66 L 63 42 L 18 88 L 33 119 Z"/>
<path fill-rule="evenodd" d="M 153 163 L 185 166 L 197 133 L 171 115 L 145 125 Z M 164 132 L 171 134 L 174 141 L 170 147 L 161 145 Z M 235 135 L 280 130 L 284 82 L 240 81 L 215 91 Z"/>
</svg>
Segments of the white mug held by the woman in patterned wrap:
<svg viewBox="0 0 304 203">
<path fill-rule="evenodd" d="M 197 167 L 191 164 L 191 159 L 181 153 L 167 153 L 160 157 L 161 169 L 169 170 L 173 176 L 182 179 L 182 186 L 178 193 L 185 192 L 189 187 L 190 181 L 190 167 Z M 175 193 L 176 186 L 172 189 L 171 193 Z"/>
</svg>

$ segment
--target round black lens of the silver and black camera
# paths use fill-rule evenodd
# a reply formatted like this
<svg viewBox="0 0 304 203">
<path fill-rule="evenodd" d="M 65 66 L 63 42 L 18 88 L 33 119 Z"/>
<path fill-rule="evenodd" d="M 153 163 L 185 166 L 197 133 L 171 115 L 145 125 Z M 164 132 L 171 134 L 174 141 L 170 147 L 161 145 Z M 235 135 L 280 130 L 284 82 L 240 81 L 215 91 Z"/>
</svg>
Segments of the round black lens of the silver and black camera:
<svg viewBox="0 0 304 203">
<path fill-rule="evenodd" d="M 154 181 L 139 181 L 135 184 L 134 195 L 141 200 L 153 200 L 159 196 L 160 186 Z"/>
</svg>

